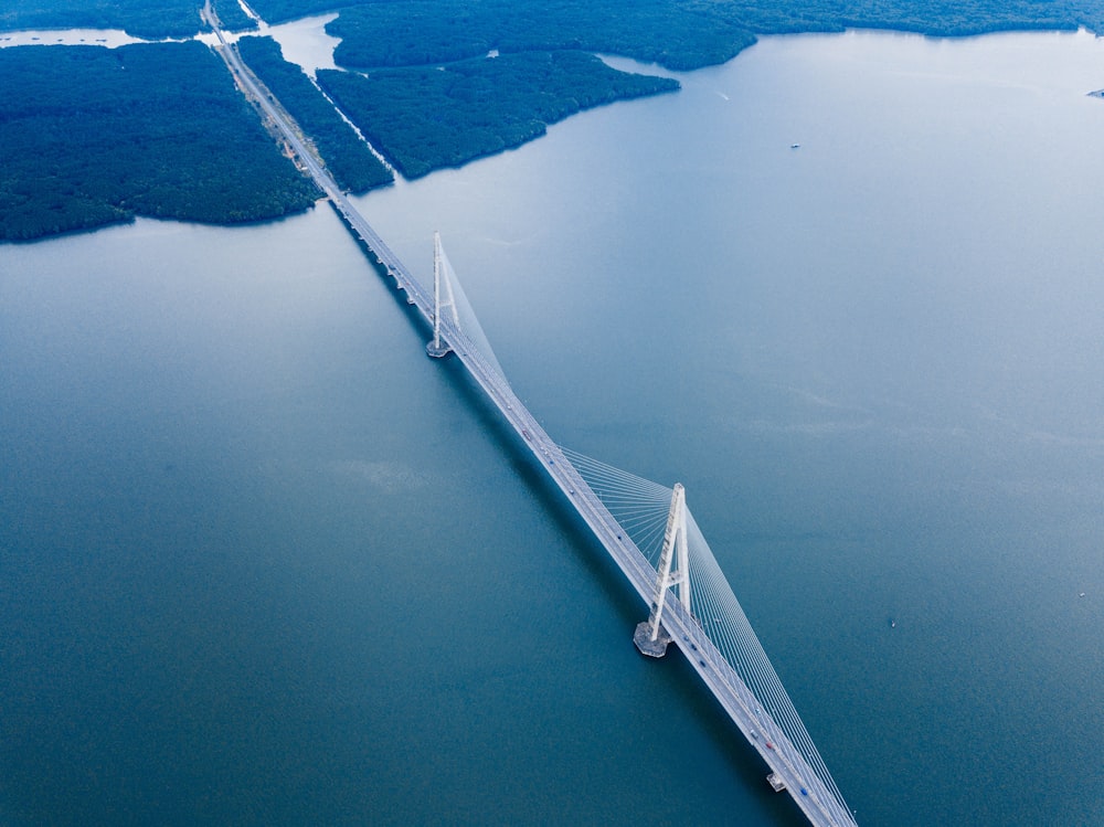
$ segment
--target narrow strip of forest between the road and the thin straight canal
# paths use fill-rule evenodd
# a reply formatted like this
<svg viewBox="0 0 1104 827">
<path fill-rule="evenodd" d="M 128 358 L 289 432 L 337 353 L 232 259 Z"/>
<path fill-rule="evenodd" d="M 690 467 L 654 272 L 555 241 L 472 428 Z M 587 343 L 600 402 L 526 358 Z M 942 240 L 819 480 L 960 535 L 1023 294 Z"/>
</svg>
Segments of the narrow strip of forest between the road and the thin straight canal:
<svg viewBox="0 0 1104 827">
<path fill-rule="evenodd" d="M 394 180 L 391 170 L 338 115 L 310 78 L 298 66 L 283 59 L 276 41 L 272 38 L 242 38 L 237 49 L 242 60 L 314 139 L 342 189 L 367 192 Z"/>
</svg>

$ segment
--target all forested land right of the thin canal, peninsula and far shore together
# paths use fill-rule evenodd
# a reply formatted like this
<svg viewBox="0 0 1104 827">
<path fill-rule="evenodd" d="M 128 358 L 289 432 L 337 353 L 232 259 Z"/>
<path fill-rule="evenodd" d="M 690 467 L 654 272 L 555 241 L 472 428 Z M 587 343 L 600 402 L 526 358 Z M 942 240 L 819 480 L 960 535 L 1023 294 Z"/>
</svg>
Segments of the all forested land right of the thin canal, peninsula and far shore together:
<svg viewBox="0 0 1104 827">
<path fill-rule="evenodd" d="M 691 70 L 723 63 L 760 34 L 848 26 L 931 34 L 1098 29 L 1104 0 L 254 0 L 269 20 L 340 4 L 335 59 L 362 74 L 319 84 L 407 177 L 544 134 L 546 124 L 655 94 L 581 53 Z M 486 56 L 497 52 L 497 60 Z M 575 105 L 577 104 L 577 105 Z"/>
</svg>

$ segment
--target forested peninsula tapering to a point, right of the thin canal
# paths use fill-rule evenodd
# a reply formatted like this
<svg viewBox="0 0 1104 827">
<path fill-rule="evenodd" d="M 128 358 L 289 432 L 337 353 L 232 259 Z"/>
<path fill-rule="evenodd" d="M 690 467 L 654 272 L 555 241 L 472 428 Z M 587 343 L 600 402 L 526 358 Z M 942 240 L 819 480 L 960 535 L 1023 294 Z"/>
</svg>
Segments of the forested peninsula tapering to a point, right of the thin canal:
<svg viewBox="0 0 1104 827">
<path fill-rule="evenodd" d="M 480 57 L 371 77 L 330 70 L 318 82 L 408 178 L 517 147 L 581 109 L 679 88 L 583 52 Z"/>
</svg>

